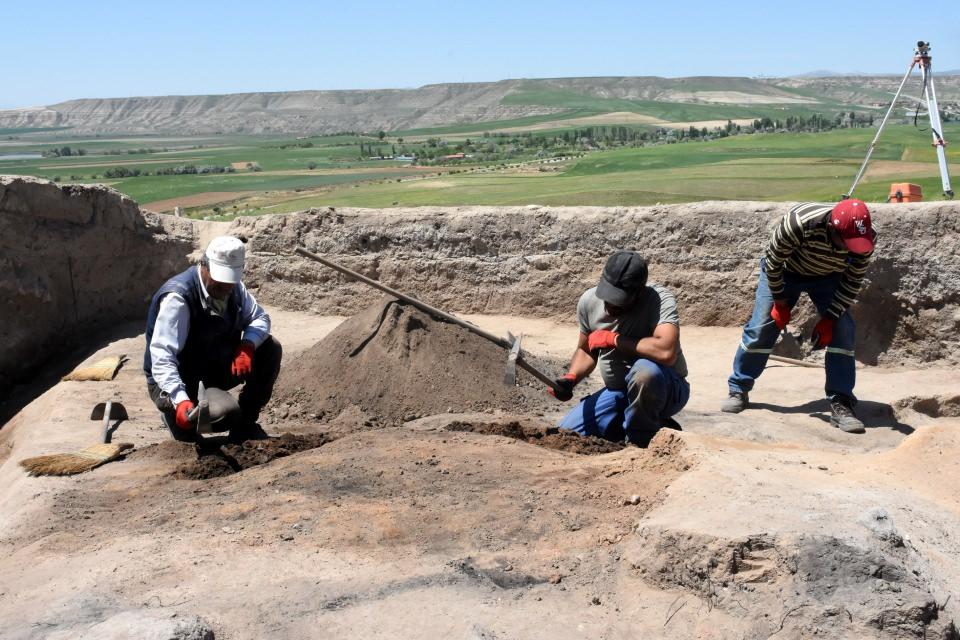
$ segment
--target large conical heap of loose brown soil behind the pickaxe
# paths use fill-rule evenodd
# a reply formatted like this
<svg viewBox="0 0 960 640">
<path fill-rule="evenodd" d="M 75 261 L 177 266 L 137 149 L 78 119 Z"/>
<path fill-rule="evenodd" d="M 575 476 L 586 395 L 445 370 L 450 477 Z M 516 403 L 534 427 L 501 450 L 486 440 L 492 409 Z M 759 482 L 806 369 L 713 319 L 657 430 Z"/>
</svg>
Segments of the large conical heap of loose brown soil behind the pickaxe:
<svg viewBox="0 0 960 640">
<path fill-rule="evenodd" d="M 543 384 L 518 369 L 518 386 L 504 385 L 506 359 L 504 349 L 462 327 L 385 299 L 286 366 L 274 403 L 292 417 L 332 420 L 359 409 L 388 425 L 445 412 L 542 412 Z M 536 364 L 548 375 L 559 371 Z"/>
</svg>

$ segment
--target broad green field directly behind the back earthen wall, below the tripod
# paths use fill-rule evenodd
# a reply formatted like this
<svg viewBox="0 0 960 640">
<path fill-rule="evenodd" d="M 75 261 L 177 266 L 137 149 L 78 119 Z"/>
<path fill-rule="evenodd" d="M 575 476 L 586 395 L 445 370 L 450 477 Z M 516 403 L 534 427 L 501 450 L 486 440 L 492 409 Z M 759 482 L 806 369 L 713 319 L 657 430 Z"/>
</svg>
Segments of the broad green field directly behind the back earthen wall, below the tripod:
<svg viewBox="0 0 960 640">
<path fill-rule="evenodd" d="M 697 200 L 837 200 L 859 168 L 872 129 L 819 134 L 758 134 L 702 143 L 620 149 L 587 155 L 558 173 L 467 173 L 399 184 L 335 190 L 295 206 L 645 205 Z M 941 198 L 927 133 L 888 128 L 856 195 L 883 201 L 891 182 L 920 184 Z M 946 128 L 960 137 L 960 125 Z M 960 180 L 960 150 L 948 147 Z M 290 203 L 294 205 L 294 203 Z"/>
</svg>

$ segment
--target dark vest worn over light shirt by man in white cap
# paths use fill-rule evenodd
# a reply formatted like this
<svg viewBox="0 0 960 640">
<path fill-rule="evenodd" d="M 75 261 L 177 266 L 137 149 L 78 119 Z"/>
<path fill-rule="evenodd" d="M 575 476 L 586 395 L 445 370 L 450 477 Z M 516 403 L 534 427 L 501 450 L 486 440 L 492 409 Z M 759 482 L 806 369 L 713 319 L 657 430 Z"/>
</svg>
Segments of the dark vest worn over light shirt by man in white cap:
<svg viewBox="0 0 960 640">
<path fill-rule="evenodd" d="M 200 274 L 197 267 L 190 267 L 167 280 L 153 294 L 150 310 L 147 312 L 147 348 L 143 353 L 144 374 L 152 378 L 153 359 L 150 357 L 150 340 L 157 325 L 160 300 L 168 293 L 178 293 L 183 296 L 190 310 L 190 332 L 187 334 L 187 343 L 177 355 L 181 375 L 184 372 L 200 375 L 207 368 L 216 366 L 215 363 L 229 362 L 243 334 L 243 300 L 240 297 L 240 287 L 236 286 L 230 292 L 223 316 L 219 316 L 212 310 L 203 308 Z"/>
</svg>

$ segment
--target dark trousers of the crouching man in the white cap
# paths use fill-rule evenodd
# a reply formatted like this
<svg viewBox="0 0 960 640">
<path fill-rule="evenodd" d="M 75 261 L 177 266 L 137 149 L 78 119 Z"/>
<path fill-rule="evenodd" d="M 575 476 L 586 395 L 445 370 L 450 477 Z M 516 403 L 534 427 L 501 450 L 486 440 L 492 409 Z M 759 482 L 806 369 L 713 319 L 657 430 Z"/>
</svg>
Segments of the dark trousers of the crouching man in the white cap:
<svg viewBox="0 0 960 640">
<path fill-rule="evenodd" d="M 197 393 L 200 387 L 200 381 L 207 388 L 215 387 L 217 389 L 232 389 L 238 384 L 243 384 L 240 390 L 238 404 L 243 418 L 241 429 L 249 429 L 260 417 L 260 410 L 270 401 L 273 395 L 273 385 L 280 374 L 280 361 L 283 358 L 283 347 L 273 336 L 267 336 L 256 351 L 253 353 L 253 368 L 246 379 L 238 378 L 230 373 L 230 366 L 233 359 L 225 362 L 206 361 L 203 371 L 194 369 L 180 369 L 180 379 L 187 388 L 187 395 L 194 402 L 197 401 Z M 191 430 L 181 429 L 177 426 L 177 410 L 173 406 L 170 397 L 161 391 L 160 386 L 155 383 L 147 383 L 147 392 L 150 399 L 163 414 L 163 422 L 167 425 L 174 439 L 187 442 L 196 440 L 196 433 Z"/>
</svg>

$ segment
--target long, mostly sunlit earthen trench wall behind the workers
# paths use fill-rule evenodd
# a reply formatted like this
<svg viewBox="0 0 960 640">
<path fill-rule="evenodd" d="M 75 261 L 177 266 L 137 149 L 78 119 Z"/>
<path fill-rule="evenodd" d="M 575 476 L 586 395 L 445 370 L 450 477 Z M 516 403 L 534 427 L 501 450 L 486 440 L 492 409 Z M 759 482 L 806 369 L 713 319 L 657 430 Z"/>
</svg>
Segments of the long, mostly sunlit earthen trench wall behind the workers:
<svg viewBox="0 0 960 640">
<path fill-rule="evenodd" d="M 300 244 L 454 312 L 573 317 L 611 252 L 650 261 L 673 289 L 681 320 L 741 325 L 759 256 L 789 203 L 703 202 L 656 207 L 463 207 L 311 210 L 245 218 L 248 279 L 268 303 L 348 314 L 375 299 L 366 286 L 290 253 Z M 867 363 L 960 359 L 960 206 L 874 205 L 880 231 L 869 283 L 854 309 Z M 815 322 L 804 303 L 798 326 Z"/>
</svg>

